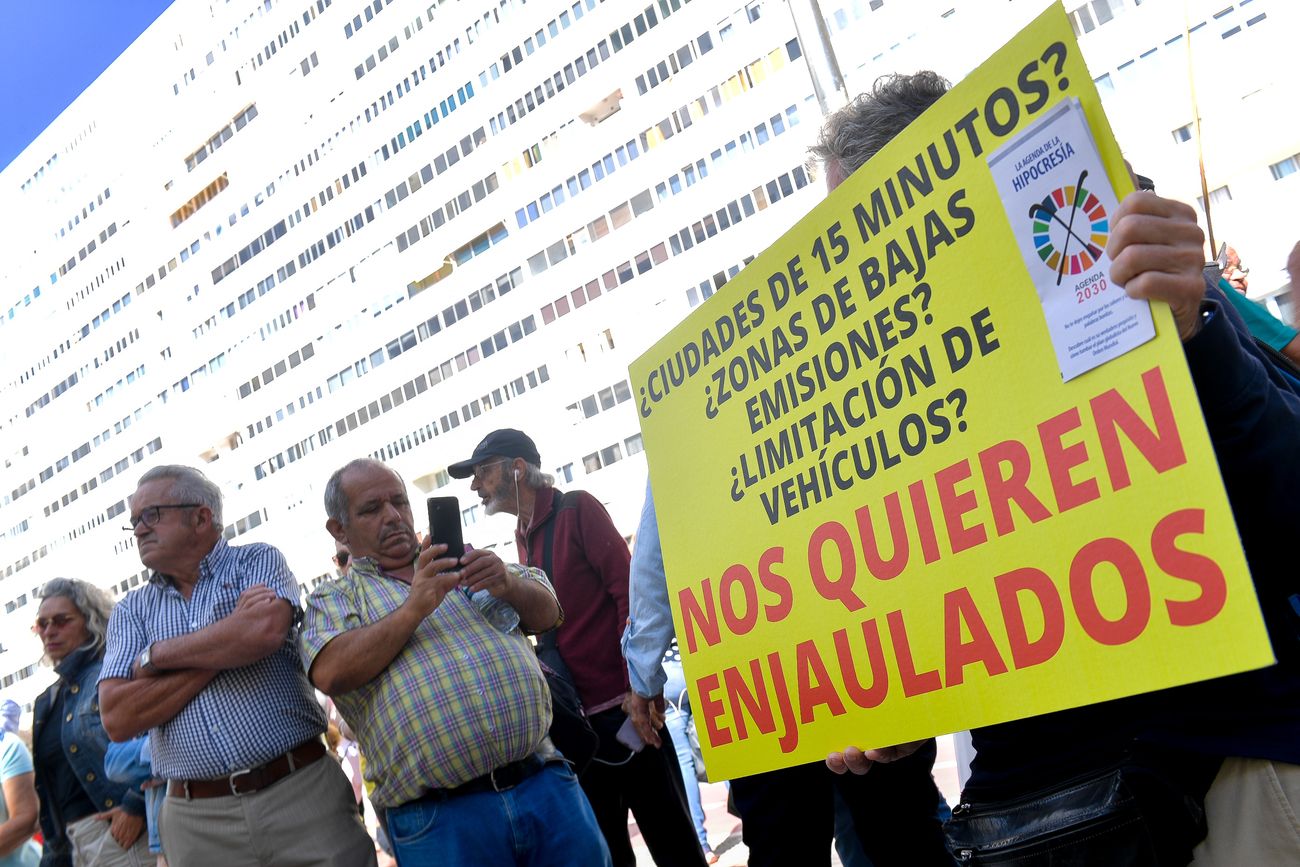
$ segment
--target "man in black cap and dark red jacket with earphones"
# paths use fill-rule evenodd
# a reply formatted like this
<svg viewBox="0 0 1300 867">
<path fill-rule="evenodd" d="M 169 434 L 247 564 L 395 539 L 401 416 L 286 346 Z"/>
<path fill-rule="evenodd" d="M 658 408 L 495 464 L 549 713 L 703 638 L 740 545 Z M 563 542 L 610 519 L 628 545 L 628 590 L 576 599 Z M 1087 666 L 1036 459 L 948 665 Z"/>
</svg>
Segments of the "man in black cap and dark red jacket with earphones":
<svg viewBox="0 0 1300 867">
<path fill-rule="evenodd" d="M 540 464 L 528 434 L 503 428 L 447 472 L 473 477 L 469 489 L 489 515 L 519 516 L 520 562 L 545 569 L 555 586 L 564 623 L 538 647 L 542 660 L 572 681 L 601 738 L 581 783 L 615 867 L 636 864 L 629 810 L 656 864 L 705 867 L 668 733 L 662 749 L 642 749 L 623 711 L 628 669 L 619 637 L 628 621 L 628 543 L 598 499 L 556 490 Z"/>
</svg>

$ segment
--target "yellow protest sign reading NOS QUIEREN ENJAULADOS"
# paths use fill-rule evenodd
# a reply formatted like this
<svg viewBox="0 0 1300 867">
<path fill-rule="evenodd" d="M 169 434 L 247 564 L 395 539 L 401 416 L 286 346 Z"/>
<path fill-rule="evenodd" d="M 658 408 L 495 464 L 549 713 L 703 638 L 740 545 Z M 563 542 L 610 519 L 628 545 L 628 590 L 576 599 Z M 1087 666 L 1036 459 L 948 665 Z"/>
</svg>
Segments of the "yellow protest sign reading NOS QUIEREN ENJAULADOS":
<svg viewBox="0 0 1300 867">
<path fill-rule="evenodd" d="M 1053 6 L 632 367 L 711 777 L 1273 662 L 1130 190 Z"/>
</svg>

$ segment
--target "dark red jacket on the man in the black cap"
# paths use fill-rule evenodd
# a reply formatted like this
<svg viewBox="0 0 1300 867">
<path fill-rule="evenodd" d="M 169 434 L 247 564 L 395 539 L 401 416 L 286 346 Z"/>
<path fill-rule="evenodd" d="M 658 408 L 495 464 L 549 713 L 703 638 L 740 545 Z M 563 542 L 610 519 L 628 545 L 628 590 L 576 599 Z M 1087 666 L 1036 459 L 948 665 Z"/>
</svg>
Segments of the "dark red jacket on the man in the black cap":
<svg viewBox="0 0 1300 867">
<path fill-rule="evenodd" d="M 578 697 L 592 711 L 628 692 L 619 637 L 628 621 L 632 556 L 601 500 L 568 491 L 552 519 L 554 499 L 554 487 L 537 491 L 533 519 L 524 533 L 515 532 L 515 543 L 520 563 L 541 568 L 545 524 L 555 521 L 549 577 L 564 608 L 558 643 Z"/>
</svg>

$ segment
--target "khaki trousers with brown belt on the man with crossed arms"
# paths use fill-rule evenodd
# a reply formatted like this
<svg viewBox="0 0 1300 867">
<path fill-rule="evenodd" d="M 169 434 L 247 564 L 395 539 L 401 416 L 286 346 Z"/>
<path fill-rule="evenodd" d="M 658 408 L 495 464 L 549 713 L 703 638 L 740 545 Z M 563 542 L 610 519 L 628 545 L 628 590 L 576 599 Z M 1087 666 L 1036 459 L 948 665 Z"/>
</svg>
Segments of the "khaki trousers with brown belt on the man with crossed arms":
<svg viewBox="0 0 1300 867">
<path fill-rule="evenodd" d="M 352 786 L 328 755 L 252 794 L 168 794 L 159 831 L 170 867 L 376 867 Z"/>
</svg>

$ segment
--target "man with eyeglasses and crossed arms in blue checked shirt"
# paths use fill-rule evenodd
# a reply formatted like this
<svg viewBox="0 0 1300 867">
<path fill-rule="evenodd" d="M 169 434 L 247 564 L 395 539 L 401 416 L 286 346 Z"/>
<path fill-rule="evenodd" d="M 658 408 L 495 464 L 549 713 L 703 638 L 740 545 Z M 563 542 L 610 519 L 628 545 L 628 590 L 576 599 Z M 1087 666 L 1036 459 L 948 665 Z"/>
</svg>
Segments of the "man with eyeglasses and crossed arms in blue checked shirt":
<svg viewBox="0 0 1300 867">
<path fill-rule="evenodd" d="M 190 467 L 144 473 L 130 507 L 152 575 L 109 619 L 100 712 L 114 741 L 150 733 L 170 862 L 373 867 L 347 777 L 321 760 L 325 714 L 298 659 L 283 555 L 228 545 L 221 491 Z"/>
</svg>

